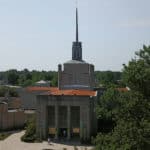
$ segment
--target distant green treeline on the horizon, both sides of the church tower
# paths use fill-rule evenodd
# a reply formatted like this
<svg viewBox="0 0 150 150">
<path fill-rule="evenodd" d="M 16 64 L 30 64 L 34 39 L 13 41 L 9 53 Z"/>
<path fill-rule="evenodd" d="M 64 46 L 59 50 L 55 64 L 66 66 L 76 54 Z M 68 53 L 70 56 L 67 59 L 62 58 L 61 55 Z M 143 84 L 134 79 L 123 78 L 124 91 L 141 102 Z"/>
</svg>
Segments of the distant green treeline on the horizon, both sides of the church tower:
<svg viewBox="0 0 150 150">
<path fill-rule="evenodd" d="M 118 84 L 121 80 L 121 72 L 113 71 L 96 71 L 95 77 L 97 85 Z M 16 85 L 16 86 L 30 86 L 35 82 L 45 80 L 51 81 L 51 86 L 57 86 L 58 75 L 57 71 L 29 71 L 24 69 L 18 71 L 16 69 L 0 72 L 0 82 L 4 84 Z"/>
</svg>

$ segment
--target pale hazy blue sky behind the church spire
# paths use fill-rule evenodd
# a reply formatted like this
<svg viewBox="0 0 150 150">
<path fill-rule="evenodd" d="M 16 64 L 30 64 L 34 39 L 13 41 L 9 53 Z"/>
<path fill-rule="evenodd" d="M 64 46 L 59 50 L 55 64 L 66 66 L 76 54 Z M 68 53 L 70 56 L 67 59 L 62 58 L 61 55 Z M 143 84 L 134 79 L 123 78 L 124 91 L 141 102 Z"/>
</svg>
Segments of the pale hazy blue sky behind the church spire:
<svg viewBox="0 0 150 150">
<path fill-rule="evenodd" d="M 83 59 L 120 71 L 150 41 L 150 0 L 78 0 Z M 0 71 L 57 70 L 71 59 L 75 0 L 0 0 Z"/>
</svg>

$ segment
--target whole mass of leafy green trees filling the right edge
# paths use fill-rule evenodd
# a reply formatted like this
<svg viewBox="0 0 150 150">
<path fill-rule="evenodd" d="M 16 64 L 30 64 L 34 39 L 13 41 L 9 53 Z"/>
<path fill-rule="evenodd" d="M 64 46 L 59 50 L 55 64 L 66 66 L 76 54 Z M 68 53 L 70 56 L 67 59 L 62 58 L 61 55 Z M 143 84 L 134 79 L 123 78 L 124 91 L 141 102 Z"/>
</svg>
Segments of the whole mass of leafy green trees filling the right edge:
<svg viewBox="0 0 150 150">
<path fill-rule="evenodd" d="M 144 46 L 136 55 L 123 69 L 124 82 L 131 90 L 107 90 L 97 106 L 98 118 L 115 122 L 108 133 L 97 135 L 97 150 L 150 149 L 150 47 Z"/>
</svg>

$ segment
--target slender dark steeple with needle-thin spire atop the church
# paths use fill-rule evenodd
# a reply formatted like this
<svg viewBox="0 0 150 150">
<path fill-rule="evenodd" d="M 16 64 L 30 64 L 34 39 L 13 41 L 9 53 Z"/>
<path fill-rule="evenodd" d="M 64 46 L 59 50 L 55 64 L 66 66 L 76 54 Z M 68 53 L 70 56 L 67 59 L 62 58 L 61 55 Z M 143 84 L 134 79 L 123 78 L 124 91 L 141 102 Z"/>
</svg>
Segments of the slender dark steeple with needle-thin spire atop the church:
<svg viewBox="0 0 150 150">
<path fill-rule="evenodd" d="M 78 8 L 76 7 L 76 41 L 72 45 L 72 60 L 82 61 L 82 43 L 79 42 Z"/>
</svg>

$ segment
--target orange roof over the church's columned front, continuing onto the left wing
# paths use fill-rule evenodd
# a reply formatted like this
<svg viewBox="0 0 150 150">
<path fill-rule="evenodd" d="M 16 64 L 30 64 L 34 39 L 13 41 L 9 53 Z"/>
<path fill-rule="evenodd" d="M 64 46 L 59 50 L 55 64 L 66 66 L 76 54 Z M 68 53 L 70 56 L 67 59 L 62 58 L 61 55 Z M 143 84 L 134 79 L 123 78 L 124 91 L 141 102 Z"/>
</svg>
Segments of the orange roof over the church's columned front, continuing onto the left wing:
<svg viewBox="0 0 150 150">
<path fill-rule="evenodd" d="M 43 93 L 42 95 L 68 95 L 68 96 L 96 96 L 96 91 L 90 91 L 90 90 L 59 90 L 57 87 L 28 87 L 27 91 L 33 92 L 33 91 L 43 91 L 46 93 Z"/>
</svg>

